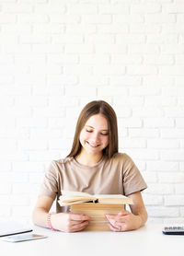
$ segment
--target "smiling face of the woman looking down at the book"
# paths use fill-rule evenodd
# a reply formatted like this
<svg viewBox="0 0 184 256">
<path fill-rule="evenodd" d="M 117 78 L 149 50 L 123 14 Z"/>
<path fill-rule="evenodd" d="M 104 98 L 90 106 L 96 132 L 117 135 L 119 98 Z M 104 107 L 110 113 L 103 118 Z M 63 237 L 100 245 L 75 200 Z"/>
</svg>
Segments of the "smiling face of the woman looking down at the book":
<svg viewBox="0 0 184 256">
<path fill-rule="evenodd" d="M 101 154 L 109 145 L 109 125 L 102 114 L 91 116 L 80 133 L 82 150 L 88 154 Z"/>
</svg>

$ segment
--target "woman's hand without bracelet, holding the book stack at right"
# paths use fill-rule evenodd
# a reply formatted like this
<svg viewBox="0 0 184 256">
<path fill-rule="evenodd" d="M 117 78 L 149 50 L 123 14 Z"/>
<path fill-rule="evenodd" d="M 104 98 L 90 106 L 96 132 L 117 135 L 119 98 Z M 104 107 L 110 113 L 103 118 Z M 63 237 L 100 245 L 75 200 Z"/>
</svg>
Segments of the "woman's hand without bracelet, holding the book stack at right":
<svg viewBox="0 0 184 256">
<path fill-rule="evenodd" d="M 109 228 L 115 232 L 133 230 L 142 226 L 141 216 L 133 215 L 128 211 L 120 212 L 118 215 L 105 216 L 109 220 Z"/>
</svg>

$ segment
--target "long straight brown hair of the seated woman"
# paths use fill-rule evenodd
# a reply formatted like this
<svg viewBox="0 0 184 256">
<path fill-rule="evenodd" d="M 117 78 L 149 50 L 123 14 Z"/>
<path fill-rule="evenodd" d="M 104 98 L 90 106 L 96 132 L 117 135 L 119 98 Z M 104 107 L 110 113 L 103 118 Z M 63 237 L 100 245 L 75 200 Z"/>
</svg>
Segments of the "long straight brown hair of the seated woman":
<svg viewBox="0 0 184 256">
<path fill-rule="evenodd" d="M 79 141 L 81 130 L 84 128 L 86 121 L 92 115 L 98 113 L 104 115 L 109 124 L 109 145 L 103 149 L 103 153 L 110 158 L 118 152 L 118 125 L 116 113 L 106 101 L 94 100 L 86 104 L 78 117 L 72 149 L 67 157 L 76 157 L 80 153 L 82 147 Z"/>
</svg>

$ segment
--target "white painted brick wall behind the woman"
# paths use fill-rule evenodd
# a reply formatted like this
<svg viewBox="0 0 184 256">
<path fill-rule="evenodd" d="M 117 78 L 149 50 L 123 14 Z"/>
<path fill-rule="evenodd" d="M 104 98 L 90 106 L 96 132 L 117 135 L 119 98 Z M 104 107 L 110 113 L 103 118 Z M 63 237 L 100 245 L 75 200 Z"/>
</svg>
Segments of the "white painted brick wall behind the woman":
<svg viewBox="0 0 184 256">
<path fill-rule="evenodd" d="M 79 111 L 105 99 L 149 220 L 184 220 L 183 32 L 179 0 L 0 1 L 0 216 L 29 221 Z"/>
</svg>

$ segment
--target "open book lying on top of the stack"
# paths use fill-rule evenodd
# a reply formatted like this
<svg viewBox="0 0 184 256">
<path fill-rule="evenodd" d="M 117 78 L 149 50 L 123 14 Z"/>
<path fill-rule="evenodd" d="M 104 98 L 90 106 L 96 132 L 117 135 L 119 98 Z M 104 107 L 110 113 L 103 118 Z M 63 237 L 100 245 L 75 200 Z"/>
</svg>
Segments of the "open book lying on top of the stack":
<svg viewBox="0 0 184 256">
<path fill-rule="evenodd" d="M 122 194 L 90 194 L 87 192 L 68 192 L 62 191 L 58 203 L 61 206 L 82 204 L 82 203 L 99 203 L 99 204 L 132 204 L 132 198 Z"/>
</svg>

